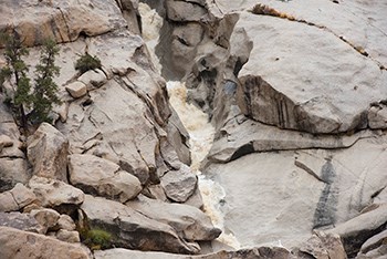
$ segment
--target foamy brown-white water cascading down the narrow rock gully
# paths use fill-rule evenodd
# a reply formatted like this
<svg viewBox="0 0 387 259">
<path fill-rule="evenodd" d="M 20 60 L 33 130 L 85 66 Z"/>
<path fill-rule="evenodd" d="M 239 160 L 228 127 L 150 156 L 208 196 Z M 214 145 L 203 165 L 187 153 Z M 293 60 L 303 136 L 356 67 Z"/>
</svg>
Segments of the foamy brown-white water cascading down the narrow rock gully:
<svg viewBox="0 0 387 259">
<path fill-rule="evenodd" d="M 163 18 L 145 3 L 139 3 L 139 13 L 143 21 L 143 39 L 148 46 L 155 66 L 158 71 L 161 71 L 161 65 L 155 54 L 155 46 L 159 39 Z M 217 240 L 239 249 L 240 244 L 237 238 L 232 234 L 224 232 L 224 215 L 221 211 L 226 198 L 224 189 L 218 183 L 206 178 L 199 170 L 200 163 L 211 148 L 215 128 L 209 123 L 207 114 L 197 106 L 187 103 L 187 89 L 184 82 L 169 81 L 167 82 L 167 89 L 170 96 L 169 102 L 190 136 L 189 144 L 192 160 L 190 168 L 198 175 L 198 186 L 203 199 L 205 213 L 211 218 L 216 227 L 223 230 Z"/>
</svg>

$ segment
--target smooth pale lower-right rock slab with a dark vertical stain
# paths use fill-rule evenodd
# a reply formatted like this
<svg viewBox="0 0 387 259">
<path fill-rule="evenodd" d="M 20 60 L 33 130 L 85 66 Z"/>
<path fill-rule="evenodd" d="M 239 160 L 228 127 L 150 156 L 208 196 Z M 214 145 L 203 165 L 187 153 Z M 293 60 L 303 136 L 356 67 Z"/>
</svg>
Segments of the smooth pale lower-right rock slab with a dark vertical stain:
<svg viewBox="0 0 387 259">
<path fill-rule="evenodd" d="M 210 194 L 211 204 L 242 246 L 281 240 L 294 247 L 313 228 L 343 224 L 377 198 L 387 183 L 380 173 L 387 166 L 385 147 L 386 135 L 380 135 L 347 149 L 242 154 L 227 164 L 207 165 L 203 174 L 226 194 L 219 200 L 212 196 L 217 191 Z"/>
</svg>

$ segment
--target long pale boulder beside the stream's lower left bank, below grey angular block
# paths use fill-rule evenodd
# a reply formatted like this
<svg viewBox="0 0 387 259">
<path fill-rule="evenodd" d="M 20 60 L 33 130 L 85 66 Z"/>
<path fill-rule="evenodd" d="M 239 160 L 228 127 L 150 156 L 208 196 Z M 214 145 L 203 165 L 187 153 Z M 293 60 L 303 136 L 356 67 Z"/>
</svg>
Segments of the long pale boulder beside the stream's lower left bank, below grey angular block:
<svg viewBox="0 0 387 259">
<path fill-rule="evenodd" d="M 130 208 L 157 221 L 168 224 L 187 240 L 213 240 L 221 230 L 200 209 L 182 204 L 167 204 L 139 196 L 127 203 Z"/>
</svg>

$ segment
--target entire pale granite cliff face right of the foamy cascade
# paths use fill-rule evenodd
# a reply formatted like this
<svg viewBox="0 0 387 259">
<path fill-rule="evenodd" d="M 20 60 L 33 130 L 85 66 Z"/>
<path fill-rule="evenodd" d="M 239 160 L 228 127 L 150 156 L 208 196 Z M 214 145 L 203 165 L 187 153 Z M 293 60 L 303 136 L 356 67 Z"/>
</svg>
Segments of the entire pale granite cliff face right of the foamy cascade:
<svg viewBox="0 0 387 259">
<path fill-rule="evenodd" d="M 189 4 L 195 15 L 185 20 L 180 6 Z M 164 75 L 186 80 L 189 101 L 217 130 L 202 170 L 224 190 L 217 206 L 226 232 L 242 246 L 300 246 L 311 230 L 341 226 L 386 203 L 386 133 L 375 131 L 386 128 L 387 49 L 377 43 L 386 40 L 386 23 L 376 11 L 384 3 L 165 7 L 161 34 L 168 37 L 156 51 Z M 172 54 L 164 54 L 167 48 Z M 367 224 L 357 222 L 366 231 Z M 354 251 L 344 241 L 346 252 L 356 256 L 367 238 Z M 330 257 L 328 250 L 310 255 Z M 345 258 L 343 250 L 331 252 Z"/>
</svg>

